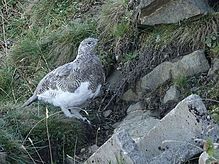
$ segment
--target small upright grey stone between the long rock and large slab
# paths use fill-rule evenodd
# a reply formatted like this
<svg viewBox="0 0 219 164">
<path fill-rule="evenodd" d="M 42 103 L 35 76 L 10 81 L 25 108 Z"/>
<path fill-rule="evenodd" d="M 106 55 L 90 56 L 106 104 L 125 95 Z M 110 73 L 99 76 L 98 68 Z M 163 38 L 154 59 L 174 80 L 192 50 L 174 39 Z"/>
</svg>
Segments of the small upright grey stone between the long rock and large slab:
<svg viewBox="0 0 219 164">
<path fill-rule="evenodd" d="M 175 85 L 172 85 L 166 92 L 163 102 L 164 104 L 169 101 L 178 101 L 180 97 L 180 91 Z"/>
</svg>

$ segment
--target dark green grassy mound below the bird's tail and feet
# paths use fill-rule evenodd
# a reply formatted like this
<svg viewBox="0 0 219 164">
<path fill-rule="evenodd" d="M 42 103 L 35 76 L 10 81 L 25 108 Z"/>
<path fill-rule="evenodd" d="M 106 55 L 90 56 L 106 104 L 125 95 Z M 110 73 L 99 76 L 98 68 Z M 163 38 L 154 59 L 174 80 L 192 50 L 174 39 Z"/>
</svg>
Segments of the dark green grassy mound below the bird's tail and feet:
<svg viewBox="0 0 219 164">
<path fill-rule="evenodd" d="M 87 144 L 87 138 L 84 126 L 79 121 L 64 118 L 55 112 L 57 111 L 50 111 L 48 128 L 54 161 L 60 163 L 63 152 L 64 156 L 74 156 L 76 140 L 76 146 L 80 149 Z M 50 160 L 45 108 L 19 109 L 18 106 L 6 104 L 1 106 L 0 113 L 4 115 L 0 117 L 0 147 L 7 152 L 8 162 L 30 163 L 32 161 L 28 153 L 34 160 L 40 160 L 36 150 L 44 161 Z M 33 141 L 34 146 L 28 138 Z"/>
</svg>

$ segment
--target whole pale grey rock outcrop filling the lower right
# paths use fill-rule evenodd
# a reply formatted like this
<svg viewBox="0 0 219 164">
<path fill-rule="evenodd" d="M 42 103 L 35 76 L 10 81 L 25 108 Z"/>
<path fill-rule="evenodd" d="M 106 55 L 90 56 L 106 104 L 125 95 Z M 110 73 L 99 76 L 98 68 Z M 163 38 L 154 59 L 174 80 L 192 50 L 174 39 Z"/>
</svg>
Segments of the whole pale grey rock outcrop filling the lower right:
<svg viewBox="0 0 219 164">
<path fill-rule="evenodd" d="M 154 124 L 142 108 L 141 103 L 131 105 L 114 135 L 85 164 L 181 163 L 203 151 L 203 140 L 219 140 L 219 127 L 197 95 L 178 103 L 164 118 L 153 120 Z"/>
</svg>

